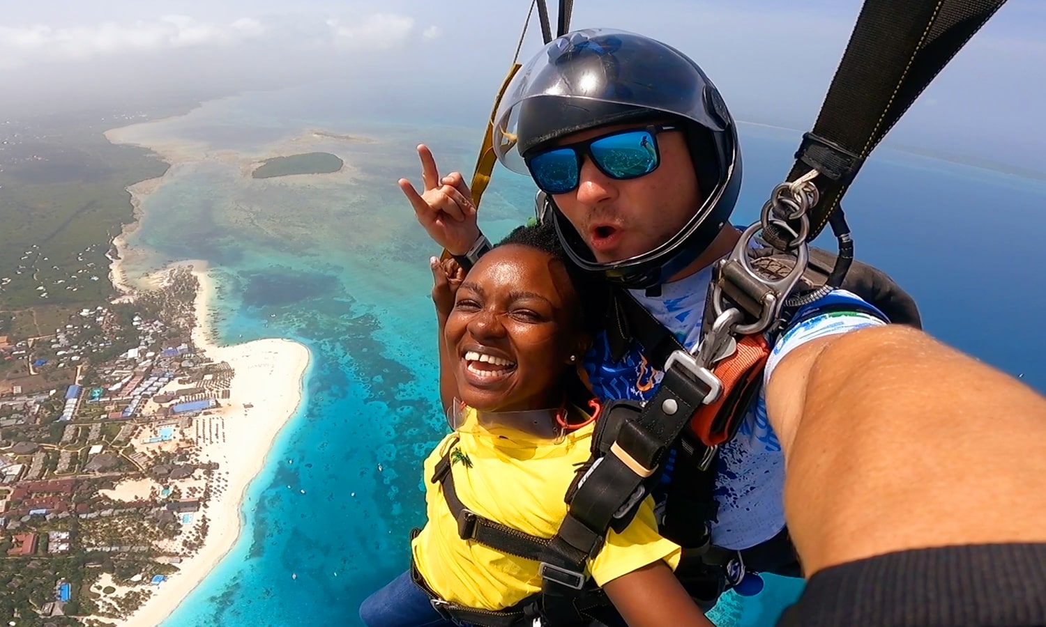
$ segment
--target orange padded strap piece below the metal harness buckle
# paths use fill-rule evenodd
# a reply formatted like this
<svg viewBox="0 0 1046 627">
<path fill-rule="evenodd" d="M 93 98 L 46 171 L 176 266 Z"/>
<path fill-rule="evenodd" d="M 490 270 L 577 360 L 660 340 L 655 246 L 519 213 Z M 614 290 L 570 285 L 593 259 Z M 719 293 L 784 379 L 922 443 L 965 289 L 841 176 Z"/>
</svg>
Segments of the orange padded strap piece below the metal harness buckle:
<svg viewBox="0 0 1046 627">
<path fill-rule="evenodd" d="M 690 429 L 705 446 L 729 439 L 736 422 L 744 418 L 746 408 L 738 408 L 737 402 L 748 396 L 744 392 L 750 386 L 758 382 L 769 356 L 770 345 L 761 333 L 745 335 L 737 341 L 737 350 L 712 368 L 712 374 L 723 381 L 723 392 L 713 402 L 698 408 L 690 418 Z"/>
</svg>

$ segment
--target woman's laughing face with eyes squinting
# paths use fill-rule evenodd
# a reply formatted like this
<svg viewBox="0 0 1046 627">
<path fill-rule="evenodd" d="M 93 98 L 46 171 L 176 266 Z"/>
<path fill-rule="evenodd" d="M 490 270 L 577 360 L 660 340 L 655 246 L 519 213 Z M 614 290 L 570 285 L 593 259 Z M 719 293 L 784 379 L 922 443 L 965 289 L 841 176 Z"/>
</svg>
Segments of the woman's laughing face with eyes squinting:
<svg viewBox="0 0 1046 627">
<path fill-rule="evenodd" d="M 444 334 L 461 400 L 488 412 L 562 403 L 570 356 L 582 347 L 578 320 L 562 261 L 520 245 L 483 255 L 458 288 Z"/>
</svg>

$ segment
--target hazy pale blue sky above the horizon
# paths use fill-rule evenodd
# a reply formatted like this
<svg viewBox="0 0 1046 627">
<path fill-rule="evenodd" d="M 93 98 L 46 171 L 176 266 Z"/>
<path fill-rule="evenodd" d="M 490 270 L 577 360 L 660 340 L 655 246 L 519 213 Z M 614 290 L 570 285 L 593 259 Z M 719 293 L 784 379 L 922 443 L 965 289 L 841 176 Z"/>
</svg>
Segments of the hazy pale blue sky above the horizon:
<svg viewBox="0 0 1046 627">
<path fill-rule="evenodd" d="M 310 80 L 479 120 L 529 0 L 3 2 L 0 114 Z M 554 16 L 555 0 L 549 0 Z M 692 56 L 746 121 L 806 130 L 860 0 L 575 0 L 574 28 L 621 27 Z M 1046 2 L 1009 0 L 887 143 L 1046 172 Z M 531 22 L 522 56 L 541 46 Z M 408 109 L 409 110 L 409 109 Z"/>
</svg>

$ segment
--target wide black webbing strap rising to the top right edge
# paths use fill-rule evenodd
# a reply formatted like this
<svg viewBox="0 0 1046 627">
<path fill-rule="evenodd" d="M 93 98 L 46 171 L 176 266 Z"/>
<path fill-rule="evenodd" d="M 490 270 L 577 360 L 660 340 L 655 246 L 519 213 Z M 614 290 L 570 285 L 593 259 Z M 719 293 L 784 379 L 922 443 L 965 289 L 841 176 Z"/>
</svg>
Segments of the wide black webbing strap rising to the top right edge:
<svg viewBox="0 0 1046 627">
<path fill-rule="evenodd" d="M 865 0 L 788 177 L 791 182 L 811 169 L 820 172 L 814 179 L 820 202 L 809 212 L 808 241 L 827 224 L 872 148 L 1004 2 Z"/>
</svg>

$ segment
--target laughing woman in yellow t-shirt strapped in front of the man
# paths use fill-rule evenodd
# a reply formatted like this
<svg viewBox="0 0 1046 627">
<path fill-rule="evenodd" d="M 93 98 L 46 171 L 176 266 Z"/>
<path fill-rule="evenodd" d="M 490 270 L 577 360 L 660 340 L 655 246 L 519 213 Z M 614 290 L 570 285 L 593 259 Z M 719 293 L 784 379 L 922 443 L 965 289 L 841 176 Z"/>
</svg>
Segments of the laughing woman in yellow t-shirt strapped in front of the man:
<svg viewBox="0 0 1046 627">
<path fill-rule="evenodd" d="M 522 611 L 541 590 L 538 561 L 462 539 L 451 504 L 538 538 L 553 536 L 566 515 L 564 494 L 589 459 L 598 413 L 586 408 L 577 367 L 598 304 L 569 268 L 551 227 L 516 229 L 468 277 L 432 260 L 446 321 L 440 358 L 457 382 L 455 431 L 425 462 L 428 522 L 412 541 L 413 568 L 364 601 L 367 625 L 481 617 L 455 608 Z M 647 497 L 588 573 L 630 625 L 710 626 L 673 574 L 679 554 L 658 535 Z"/>
</svg>

